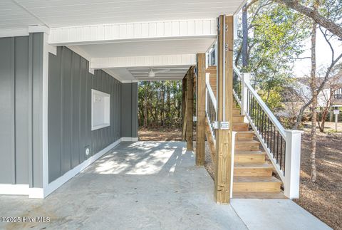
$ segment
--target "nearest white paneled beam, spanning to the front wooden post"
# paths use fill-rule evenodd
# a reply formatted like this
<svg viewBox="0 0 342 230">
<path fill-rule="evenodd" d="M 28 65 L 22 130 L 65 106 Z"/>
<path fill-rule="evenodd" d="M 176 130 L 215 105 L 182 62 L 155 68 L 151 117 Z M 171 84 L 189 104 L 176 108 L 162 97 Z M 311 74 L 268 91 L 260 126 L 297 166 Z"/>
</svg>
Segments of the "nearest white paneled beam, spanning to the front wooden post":
<svg viewBox="0 0 342 230">
<path fill-rule="evenodd" d="M 50 28 L 49 43 L 58 46 L 109 43 L 157 38 L 216 37 L 216 19 L 115 23 Z"/>
</svg>

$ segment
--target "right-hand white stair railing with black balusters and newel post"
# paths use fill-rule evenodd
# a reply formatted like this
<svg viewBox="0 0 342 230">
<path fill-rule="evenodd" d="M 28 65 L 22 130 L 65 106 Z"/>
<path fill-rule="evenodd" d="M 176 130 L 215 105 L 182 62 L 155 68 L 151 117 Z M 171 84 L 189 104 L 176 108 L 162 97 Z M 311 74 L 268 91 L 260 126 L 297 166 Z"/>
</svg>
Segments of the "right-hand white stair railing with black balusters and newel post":
<svg viewBox="0 0 342 230">
<path fill-rule="evenodd" d="M 285 130 L 250 84 L 249 73 L 234 66 L 234 98 L 284 184 L 284 194 L 299 197 L 301 131 Z"/>
</svg>

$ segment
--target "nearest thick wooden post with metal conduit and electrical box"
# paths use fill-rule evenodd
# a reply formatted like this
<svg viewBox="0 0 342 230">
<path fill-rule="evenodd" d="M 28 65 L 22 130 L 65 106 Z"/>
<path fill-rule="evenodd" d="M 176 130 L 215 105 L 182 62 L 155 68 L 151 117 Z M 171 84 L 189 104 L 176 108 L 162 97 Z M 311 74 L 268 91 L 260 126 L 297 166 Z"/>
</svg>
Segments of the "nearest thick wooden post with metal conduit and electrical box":
<svg viewBox="0 0 342 230">
<path fill-rule="evenodd" d="M 216 132 L 217 163 L 215 165 L 214 187 L 214 196 L 217 203 L 229 203 L 230 200 L 232 173 L 233 31 L 233 16 L 219 16 L 217 41 L 217 120 L 219 127 Z"/>
</svg>

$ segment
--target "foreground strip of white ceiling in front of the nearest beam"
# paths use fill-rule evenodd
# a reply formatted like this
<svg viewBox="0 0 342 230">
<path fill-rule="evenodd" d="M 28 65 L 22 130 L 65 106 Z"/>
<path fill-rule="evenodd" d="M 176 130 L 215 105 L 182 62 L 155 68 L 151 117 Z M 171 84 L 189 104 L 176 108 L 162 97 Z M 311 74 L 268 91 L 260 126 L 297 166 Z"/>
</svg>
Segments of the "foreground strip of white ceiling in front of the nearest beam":
<svg viewBox="0 0 342 230">
<path fill-rule="evenodd" d="M 234 14 L 243 0 L 1 0 L 0 29 L 135 21 L 212 19 Z"/>
</svg>

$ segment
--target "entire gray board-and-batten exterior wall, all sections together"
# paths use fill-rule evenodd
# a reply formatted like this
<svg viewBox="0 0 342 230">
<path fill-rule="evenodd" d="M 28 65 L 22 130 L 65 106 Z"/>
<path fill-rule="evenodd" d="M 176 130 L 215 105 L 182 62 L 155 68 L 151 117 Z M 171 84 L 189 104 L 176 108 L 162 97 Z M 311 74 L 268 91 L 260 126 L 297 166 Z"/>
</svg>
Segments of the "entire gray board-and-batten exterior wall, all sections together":
<svg viewBox="0 0 342 230">
<path fill-rule="evenodd" d="M 120 137 L 138 136 L 138 84 L 120 83 L 66 47 L 48 63 L 48 180 Z M 91 131 L 90 90 L 109 93 L 110 127 Z M 43 187 L 43 33 L 0 38 L 0 184 Z M 123 106 L 123 103 L 125 106 Z M 90 148 L 86 155 L 85 148 Z"/>
</svg>

